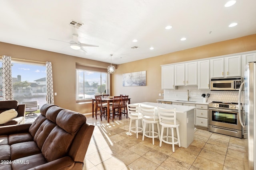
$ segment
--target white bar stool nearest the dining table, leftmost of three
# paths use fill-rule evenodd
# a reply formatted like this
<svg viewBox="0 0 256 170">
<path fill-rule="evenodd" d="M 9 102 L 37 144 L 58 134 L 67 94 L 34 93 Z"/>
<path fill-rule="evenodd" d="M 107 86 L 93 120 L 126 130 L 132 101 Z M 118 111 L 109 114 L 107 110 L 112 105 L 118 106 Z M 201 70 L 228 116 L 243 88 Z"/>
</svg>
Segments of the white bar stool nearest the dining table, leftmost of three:
<svg viewBox="0 0 256 170">
<path fill-rule="evenodd" d="M 142 127 L 138 127 L 138 120 L 142 121 L 142 114 L 139 113 L 139 105 L 137 104 L 129 104 L 126 103 L 128 117 L 130 118 L 130 125 L 129 125 L 129 135 L 131 134 L 130 131 L 136 133 L 136 138 L 138 139 L 138 133 L 143 131 L 143 122 Z M 132 120 L 135 120 L 135 127 L 132 126 Z M 134 130 L 135 129 L 135 130 Z"/>
</svg>

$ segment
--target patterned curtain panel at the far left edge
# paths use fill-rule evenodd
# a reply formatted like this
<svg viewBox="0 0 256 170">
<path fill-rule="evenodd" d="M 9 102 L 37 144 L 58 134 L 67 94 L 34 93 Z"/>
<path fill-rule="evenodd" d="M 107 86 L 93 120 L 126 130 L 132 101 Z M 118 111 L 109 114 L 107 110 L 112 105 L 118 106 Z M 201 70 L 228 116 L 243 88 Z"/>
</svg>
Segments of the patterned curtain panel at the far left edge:
<svg viewBox="0 0 256 170">
<path fill-rule="evenodd" d="M 13 100 L 12 94 L 12 59 L 4 55 L 2 58 L 2 78 L 3 78 L 3 100 Z"/>
</svg>

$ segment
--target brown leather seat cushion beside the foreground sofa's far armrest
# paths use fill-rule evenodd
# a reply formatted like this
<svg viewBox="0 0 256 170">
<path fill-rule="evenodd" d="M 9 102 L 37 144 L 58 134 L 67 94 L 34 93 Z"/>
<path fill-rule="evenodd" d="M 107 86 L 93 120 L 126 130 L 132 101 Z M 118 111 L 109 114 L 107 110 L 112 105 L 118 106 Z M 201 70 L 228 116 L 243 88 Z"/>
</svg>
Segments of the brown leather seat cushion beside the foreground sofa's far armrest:
<svg viewBox="0 0 256 170">
<path fill-rule="evenodd" d="M 8 144 L 13 145 L 16 143 L 22 143 L 22 142 L 28 142 L 33 141 L 33 137 L 30 135 L 30 133 L 17 133 L 9 135 L 8 137 Z"/>
</svg>

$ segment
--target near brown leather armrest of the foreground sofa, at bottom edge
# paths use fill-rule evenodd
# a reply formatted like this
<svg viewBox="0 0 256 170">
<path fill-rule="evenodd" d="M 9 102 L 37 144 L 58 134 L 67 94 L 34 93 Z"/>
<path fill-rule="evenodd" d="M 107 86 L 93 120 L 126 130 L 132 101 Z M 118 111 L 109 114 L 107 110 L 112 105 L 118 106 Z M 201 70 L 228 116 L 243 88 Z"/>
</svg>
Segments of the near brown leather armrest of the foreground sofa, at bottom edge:
<svg viewBox="0 0 256 170">
<path fill-rule="evenodd" d="M 65 169 L 81 169 L 82 170 L 83 163 L 82 162 L 74 162 L 72 158 L 69 156 L 65 156 L 51 162 L 47 162 L 46 164 L 42 164 L 36 166 L 34 168 L 30 168 L 29 170 L 65 170 Z"/>
</svg>

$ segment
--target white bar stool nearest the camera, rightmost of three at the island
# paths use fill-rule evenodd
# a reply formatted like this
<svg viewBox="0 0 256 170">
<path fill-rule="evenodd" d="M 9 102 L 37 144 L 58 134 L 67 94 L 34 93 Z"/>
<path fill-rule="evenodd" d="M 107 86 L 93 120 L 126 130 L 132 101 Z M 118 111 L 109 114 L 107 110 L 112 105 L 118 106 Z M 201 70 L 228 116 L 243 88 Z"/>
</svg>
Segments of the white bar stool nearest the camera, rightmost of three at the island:
<svg viewBox="0 0 256 170">
<path fill-rule="evenodd" d="M 161 136 L 160 136 L 160 147 L 162 147 L 162 141 L 164 143 L 172 144 L 172 152 L 174 152 L 174 144 L 178 144 L 180 147 L 180 134 L 179 126 L 180 121 L 176 119 L 176 108 L 174 109 L 163 109 L 158 107 L 159 124 L 162 125 Z M 163 136 L 164 128 L 166 128 L 166 136 Z M 172 136 L 168 135 L 168 129 L 171 128 Z M 176 128 L 177 137 L 174 137 L 173 128 Z M 168 137 L 172 137 L 172 142 L 168 141 Z M 164 140 L 166 138 L 166 140 Z M 174 139 L 176 140 L 174 142 Z"/>
</svg>

